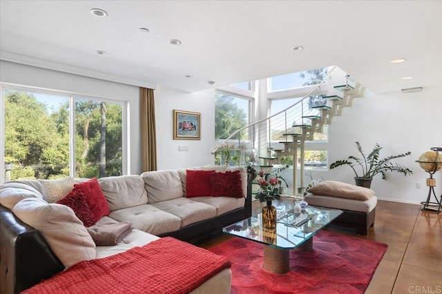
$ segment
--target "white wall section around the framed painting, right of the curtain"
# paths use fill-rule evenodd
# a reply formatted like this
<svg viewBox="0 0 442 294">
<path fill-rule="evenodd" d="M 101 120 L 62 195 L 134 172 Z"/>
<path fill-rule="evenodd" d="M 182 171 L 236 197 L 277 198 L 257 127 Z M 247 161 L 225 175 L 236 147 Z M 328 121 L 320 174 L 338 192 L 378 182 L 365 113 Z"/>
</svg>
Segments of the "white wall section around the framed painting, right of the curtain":
<svg viewBox="0 0 442 294">
<path fill-rule="evenodd" d="M 157 86 L 155 90 L 158 170 L 213 164 L 215 147 L 215 90 L 182 92 Z M 173 110 L 201 113 L 200 140 L 173 139 Z M 189 151 L 178 151 L 187 146 Z"/>
</svg>

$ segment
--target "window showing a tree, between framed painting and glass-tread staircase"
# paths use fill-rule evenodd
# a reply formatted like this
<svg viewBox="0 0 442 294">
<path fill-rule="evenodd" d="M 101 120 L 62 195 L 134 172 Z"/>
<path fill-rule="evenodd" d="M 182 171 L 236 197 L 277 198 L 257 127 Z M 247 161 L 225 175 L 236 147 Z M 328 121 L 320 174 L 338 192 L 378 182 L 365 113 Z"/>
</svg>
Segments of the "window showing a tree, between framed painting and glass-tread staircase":
<svg viewBox="0 0 442 294">
<path fill-rule="evenodd" d="M 227 139 L 240 128 L 250 124 L 251 101 L 233 95 L 215 93 L 215 139 Z M 244 130 L 232 139 L 249 139 Z"/>
</svg>

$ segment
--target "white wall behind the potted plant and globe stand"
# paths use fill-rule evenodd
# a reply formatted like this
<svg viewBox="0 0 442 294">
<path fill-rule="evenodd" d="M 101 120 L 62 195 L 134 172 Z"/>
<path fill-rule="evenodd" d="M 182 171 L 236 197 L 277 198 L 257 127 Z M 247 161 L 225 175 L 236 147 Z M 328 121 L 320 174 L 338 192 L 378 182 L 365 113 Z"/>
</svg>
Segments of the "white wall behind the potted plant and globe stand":
<svg viewBox="0 0 442 294">
<path fill-rule="evenodd" d="M 354 99 L 352 108 L 345 108 L 342 117 L 334 117 L 329 126 L 329 164 L 358 155 L 354 142 L 359 141 L 369 153 L 374 144 L 383 149 L 381 156 L 397 155 L 411 151 L 412 155 L 397 159 L 413 171 L 413 175 L 388 173 L 387 181 L 381 175 L 374 177 L 372 189 L 380 199 L 419 203 L 425 201 L 429 177 L 415 161 L 431 147 L 442 147 L 442 87 L 424 88 L 422 92 L 403 94 L 391 92 Z M 327 173 L 312 172 L 315 179 L 337 180 L 354 184 L 354 173 L 349 166 L 340 166 Z M 442 194 L 442 172 L 434 174 L 436 195 Z M 416 189 L 416 183 L 421 184 Z M 434 198 L 432 198 L 434 202 Z"/>
</svg>

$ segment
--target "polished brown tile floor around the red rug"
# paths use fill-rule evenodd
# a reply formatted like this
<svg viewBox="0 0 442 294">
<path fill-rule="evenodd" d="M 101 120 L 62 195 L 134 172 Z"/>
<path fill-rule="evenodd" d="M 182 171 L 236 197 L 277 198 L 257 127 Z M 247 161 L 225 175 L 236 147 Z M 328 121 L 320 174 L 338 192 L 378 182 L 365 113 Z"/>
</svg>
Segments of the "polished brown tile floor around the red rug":
<svg viewBox="0 0 442 294">
<path fill-rule="evenodd" d="M 253 202 L 253 214 L 261 205 Z M 438 215 L 416 204 L 378 201 L 368 236 L 332 225 L 325 230 L 388 244 L 365 293 L 442 293 L 442 212 Z M 221 234 L 196 245 L 210 248 L 229 238 Z"/>
</svg>

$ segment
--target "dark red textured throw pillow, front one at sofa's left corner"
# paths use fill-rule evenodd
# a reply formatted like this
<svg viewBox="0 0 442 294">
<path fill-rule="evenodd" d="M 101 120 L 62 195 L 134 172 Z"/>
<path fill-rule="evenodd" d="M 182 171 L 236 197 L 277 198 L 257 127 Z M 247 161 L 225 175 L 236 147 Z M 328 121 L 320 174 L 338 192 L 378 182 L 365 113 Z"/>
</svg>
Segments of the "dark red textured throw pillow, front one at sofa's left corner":
<svg viewBox="0 0 442 294">
<path fill-rule="evenodd" d="M 82 190 L 72 190 L 68 195 L 59 199 L 57 204 L 66 205 L 74 210 L 75 215 L 83 222 L 84 226 L 93 226 L 96 221 L 92 210 L 89 208 L 86 195 Z"/>
</svg>

